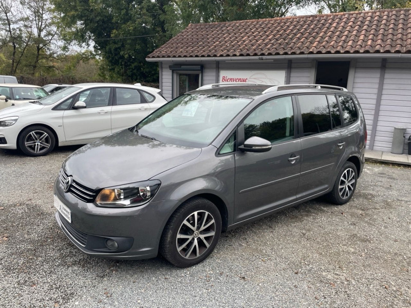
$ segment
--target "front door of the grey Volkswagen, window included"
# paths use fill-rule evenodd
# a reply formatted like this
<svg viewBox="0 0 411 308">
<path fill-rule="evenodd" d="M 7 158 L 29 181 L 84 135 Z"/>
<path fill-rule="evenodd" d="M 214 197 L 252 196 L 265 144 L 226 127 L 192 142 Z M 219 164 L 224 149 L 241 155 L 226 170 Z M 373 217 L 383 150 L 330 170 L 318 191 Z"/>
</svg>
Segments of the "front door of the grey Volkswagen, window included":
<svg viewBox="0 0 411 308">
<path fill-rule="evenodd" d="M 234 222 L 293 202 L 300 176 L 301 141 L 294 136 L 291 97 L 260 105 L 244 121 L 244 134 L 245 140 L 256 136 L 273 146 L 264 153 L 235 154 Z"/>
</svg>

